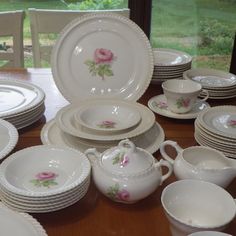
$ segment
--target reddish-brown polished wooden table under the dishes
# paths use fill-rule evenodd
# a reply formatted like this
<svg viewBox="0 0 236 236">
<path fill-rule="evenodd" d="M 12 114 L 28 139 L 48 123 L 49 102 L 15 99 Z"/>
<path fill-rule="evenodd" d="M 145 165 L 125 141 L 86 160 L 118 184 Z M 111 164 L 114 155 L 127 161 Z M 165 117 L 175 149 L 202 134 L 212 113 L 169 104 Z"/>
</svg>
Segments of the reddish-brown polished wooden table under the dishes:
<svg viewBox="0 0 236 236">
<path fill-rule="evenodd" d="M 44 124 L 54 118 L 61 107 L 68 104 L 55 86 L 50 69 L 1 70 L 0 78 L 27 80 L 45 91 L 45 115 L 33 125 L 19 131 L 19 142 L 13 152 L 41 144 L 40 131 Z M 161 93 L 160 85 L 151 84 L 139 102 L 147 105 L 151 97 Z M 236 105 L 236 99 L 209 103 L 212 106 Z M 193 120 L 175 120 L 160 115 L 156 115 L 156 120 L 163 127 L 166 139 L 174 140 L 184 148 L 197 145 L 193 137 Z M 159 151 L 154 156 L 159 159 Z M 171 234 L 160 195 L 163 188 L 175 180 L 172 175 L 151 196 L 132 205 L 110 201 L 100 194 L 92 183 L 86 196 L 76 204 L 60 211 L 32 215 L 42 224 L 49 236 L 169 236 Z M 236 180 L 227 190 L 236 198 Z M 226 232 L 236 235 L 236 220 L 231 222 Z"/>
</svg>

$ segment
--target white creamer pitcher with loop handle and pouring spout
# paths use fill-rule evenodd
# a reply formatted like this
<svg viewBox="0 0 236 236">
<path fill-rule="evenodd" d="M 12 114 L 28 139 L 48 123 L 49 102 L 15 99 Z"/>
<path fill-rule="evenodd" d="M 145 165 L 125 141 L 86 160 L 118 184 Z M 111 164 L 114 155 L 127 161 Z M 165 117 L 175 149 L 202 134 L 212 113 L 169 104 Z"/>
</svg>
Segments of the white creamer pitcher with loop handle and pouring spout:
<svg viewBox="0 0 236 236">
<path fill-rule="evenodd" d="M 175 159 L 166 153 L 165 147 L 168 145 L 175 148 Z M 226 188 L 236 177 L 236 160 L 210 147 L 192 146 L 183 149 L 176 142 L 167 140 L 160 145 L 160 153 L 173 165 L 177 179 L 199 179 Z"/>
</svg>

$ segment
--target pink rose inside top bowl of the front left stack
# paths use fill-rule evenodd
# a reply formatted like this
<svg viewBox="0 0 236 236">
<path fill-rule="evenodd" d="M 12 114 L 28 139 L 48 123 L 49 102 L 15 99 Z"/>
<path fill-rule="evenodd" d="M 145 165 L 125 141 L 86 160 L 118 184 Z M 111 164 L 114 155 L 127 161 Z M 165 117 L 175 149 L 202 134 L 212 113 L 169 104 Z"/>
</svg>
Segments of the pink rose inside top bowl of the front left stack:
<svg viewBox="0 0 236 236">
<path fill-rule="evenodd" d="M 39 172 L 35 175 L 35 179 L 30 180 L 31 183 L 34 184 L 36 187 L 47 187 L 50 188 L 51 186 L 57 185 L 58 183 L 55 179 L 58 175 L 54 172 L 50 171 L 43 171 Z"/>
</svg>

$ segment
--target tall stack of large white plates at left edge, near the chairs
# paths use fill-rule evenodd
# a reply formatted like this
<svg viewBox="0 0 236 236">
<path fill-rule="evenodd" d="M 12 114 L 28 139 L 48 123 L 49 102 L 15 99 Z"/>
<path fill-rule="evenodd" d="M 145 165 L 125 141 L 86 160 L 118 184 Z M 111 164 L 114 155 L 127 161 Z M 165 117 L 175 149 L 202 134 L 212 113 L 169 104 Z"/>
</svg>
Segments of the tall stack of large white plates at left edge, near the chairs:
<svg viewBox="0 0 236 236">
<path fill-rule="evenodd" d="M 23 81 L 0 79 L 0 118 L 17 129 L 31 125 L 45 111 L 45 94 L 37 86 Z"/>
</svg>

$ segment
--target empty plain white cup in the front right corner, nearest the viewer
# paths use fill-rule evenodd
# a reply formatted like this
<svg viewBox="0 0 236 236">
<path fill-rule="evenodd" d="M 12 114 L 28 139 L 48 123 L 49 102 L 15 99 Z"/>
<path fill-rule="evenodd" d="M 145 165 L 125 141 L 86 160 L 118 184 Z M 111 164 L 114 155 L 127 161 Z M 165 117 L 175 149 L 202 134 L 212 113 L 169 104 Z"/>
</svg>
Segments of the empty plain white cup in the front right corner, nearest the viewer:
<svg viewBox="0 0 236 236">
<path fill-rule="evenodd" d="M 223 231 L 236 215 L 236 203 L 220 186 L 201 180 L 179 180 L 165 187 L 161 203 L 172 236 Z"/>
</svg>

